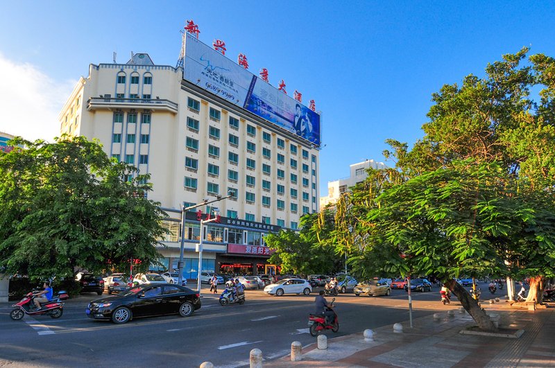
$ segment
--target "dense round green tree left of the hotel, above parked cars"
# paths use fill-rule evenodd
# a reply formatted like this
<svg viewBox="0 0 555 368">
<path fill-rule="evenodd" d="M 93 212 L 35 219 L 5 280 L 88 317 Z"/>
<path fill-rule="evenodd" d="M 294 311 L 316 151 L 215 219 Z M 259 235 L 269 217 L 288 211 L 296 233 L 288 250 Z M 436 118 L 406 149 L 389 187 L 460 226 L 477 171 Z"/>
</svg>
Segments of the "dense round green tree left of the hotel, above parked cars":
<svg viewBox="0 0 555 368">
<path fill-rule="evenodd" d="M 110 160 L 98 143 L 62 137 L 0 154 L 0 265 L 30 277 L 156 262 L 164 213 L 148 175 Z"/>
</svg>

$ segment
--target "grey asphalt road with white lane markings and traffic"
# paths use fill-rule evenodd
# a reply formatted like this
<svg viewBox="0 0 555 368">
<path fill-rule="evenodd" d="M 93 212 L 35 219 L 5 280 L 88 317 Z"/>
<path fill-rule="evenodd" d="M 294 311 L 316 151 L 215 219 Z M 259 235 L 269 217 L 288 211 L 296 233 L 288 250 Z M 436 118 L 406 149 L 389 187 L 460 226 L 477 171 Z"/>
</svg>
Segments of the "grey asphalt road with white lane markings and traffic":
<svg viewBox="0 0 555 368">
<path fill-rule="evenodd" d="M 481 287 L 487 292 L 487 286 Z M 222 307 L 204 290 L 203 306 L 191 317 L 151 317 L 123 325 L 86 317 L 87 302 L 96 298 L 92 294 L 68 303 L 60 319 L 25 316 L 15 322 L 4 310 L 0 366 L 198 367 L 210 361 L 217 367 L 241 367 L 248 365 L 251 349 L 262 350 L 264 359 L 271 360 L 287 355 L 293 341 L 302 346 L 316 342 L 307 326 L 316 292 L 272 297 L 253 290 L 246 292 L 243 306 Z M 350 292 L 336 297 L 335 304 L 340 328 L 338 333 L 327 331 L 328 338 L 409 319 L 404 290 L 393 290 L 389 297 L 355 297 Z M 413 292 L 415 318 L 458 306 L 456 299 L 443 306 L 438 288 Z"/>
</svg>

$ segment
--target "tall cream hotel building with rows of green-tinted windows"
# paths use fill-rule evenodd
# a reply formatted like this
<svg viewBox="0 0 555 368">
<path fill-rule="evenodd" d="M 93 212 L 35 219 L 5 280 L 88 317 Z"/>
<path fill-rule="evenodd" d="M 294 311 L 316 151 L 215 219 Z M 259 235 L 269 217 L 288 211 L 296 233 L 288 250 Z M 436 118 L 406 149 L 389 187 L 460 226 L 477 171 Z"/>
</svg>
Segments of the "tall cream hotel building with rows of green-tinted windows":
<svg viewBox="0 0 555 368">
<path fill-rule="evenodd" d="M 210 59 L 207 66 L 199 68 L 187 59 L 187 52 L 184 67 L 155 65 L 146 53 L 133 55 L 126 64 L 90 64 L 89 76 L 80 78 L 60 112 L 60 130 L 99 139 L 111 157 L 134 164 L 140 173 L 151 173 L 153 191 L 148 198 L 160 202 L 169 214 L 164 225 L 171 234 L 159 249 L 166 268 L 177 268 L 180 205 L 233 191 L 234 198 L 213 204 L 221 217 L 205 226 L 203 271 L 262 273 L 271 255 L 264 236 L 281 228 L 296 229 L 303 213 L 318 211 L 319 114 L 317 126 L 311 115 L 311 131 L 318 128 L 316 141 L 307 129 L 300 132 L 293 122 L 288 126 L 287 121 L 266 116 L 259 101 L 239 105 L 244 96 L 240 96 L 237 75 L 244 76 L 237 73 L 248 71 L 195 42 L 187 46 L 191 58 L 200 48 L 204 59 L 199 60 Z M 221 72 L 216 77 L 239 90 L 237 96 L 214 88 L 216 80 L 206 82 L 218 76 L 214 69 L 218 63 L 242 69 L 237 75 Z M 257 97 L 258 79 L 253 76 L 252 91 L 244 97 L 250 103 Z M 299 109 L 309 116 L 304 105 Z M 189 279 L 197 274 L 199 220 L 212 216 L 214 207 L 186 213 L 185 277 Z"/>
</svg>

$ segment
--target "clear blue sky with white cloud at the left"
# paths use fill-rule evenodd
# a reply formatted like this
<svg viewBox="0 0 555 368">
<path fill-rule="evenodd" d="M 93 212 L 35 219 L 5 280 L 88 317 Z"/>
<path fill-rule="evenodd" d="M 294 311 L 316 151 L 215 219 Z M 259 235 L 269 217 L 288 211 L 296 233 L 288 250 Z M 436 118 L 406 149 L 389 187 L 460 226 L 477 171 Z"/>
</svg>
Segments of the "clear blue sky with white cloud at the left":
<svg viewBox="0 0 555 368">
<path fill-rule="evenodd" d="M 186 19 L 323 114 L 321 195 L 385 139 L 422 137 L 432 93 L 522 46 L 555 56 L 555 3 L 531 1 L 10 1 L 0 14 L 0 131 L 58 134 L 89 63 L 146 52 L 175 65 Z M 3 87 L 2 87 L 3 84 Z M 29 107 L 34 105 L 35 107 Z M 387 163 L 386 164 L 391 164 Z"/>
</svg>

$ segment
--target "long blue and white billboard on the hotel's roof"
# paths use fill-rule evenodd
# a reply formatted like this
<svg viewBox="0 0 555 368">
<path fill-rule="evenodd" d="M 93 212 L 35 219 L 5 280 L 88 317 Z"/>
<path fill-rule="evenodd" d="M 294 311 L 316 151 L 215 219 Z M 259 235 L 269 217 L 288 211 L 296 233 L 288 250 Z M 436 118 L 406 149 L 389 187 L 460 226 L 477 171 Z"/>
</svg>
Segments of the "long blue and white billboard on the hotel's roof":
<svg viewBox="0 0 555 368">
<path fill-rule="evenodd" d="M 320 146 L 320 115 L 187 33 L 183 78 Z"/>
</svg>

